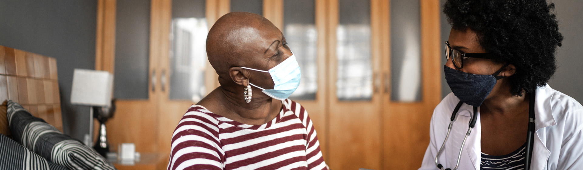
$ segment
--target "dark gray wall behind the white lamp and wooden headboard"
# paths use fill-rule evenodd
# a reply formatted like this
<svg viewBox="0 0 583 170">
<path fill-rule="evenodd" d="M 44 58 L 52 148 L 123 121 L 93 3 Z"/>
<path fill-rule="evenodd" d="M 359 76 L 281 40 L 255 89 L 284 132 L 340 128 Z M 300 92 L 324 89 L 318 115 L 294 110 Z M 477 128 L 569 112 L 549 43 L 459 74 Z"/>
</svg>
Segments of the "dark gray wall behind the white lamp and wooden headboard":
<svg viewBox="0 0 583 170">
<path fill-rule="evenodd" d="M 73 69 L 94 69 L 97 1 L 0 0 L 0 45 L 57 59 L 63 129 L 82 140 L 89 108 L 71 105 Z"/>
</svg>

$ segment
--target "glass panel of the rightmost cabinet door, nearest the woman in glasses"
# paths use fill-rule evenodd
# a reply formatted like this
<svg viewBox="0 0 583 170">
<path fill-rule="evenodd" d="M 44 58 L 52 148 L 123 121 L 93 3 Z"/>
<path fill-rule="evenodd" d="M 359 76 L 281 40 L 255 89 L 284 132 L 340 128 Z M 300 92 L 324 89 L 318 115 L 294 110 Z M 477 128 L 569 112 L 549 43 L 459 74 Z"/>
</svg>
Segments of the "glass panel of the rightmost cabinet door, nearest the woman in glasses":
<svg viewBox="0 0 583 170">
<path fill-rule="evenodd" d="M 391 100 L 422 100 L 420 3 L 391 0 Z"/>
</svg>

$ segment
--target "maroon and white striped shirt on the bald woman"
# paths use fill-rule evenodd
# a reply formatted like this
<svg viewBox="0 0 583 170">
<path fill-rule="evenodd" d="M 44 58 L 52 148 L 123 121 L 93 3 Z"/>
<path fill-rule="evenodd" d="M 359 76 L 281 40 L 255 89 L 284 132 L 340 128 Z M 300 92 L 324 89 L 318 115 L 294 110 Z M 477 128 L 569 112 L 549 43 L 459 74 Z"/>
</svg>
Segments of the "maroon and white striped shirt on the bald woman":
<svg viewBox="0 0 583 170">
<path fill-rule="evenodd" d="M 297 102 L 282 103 L 264 125 L 192 105 L 172 135 L 167 169 L 326 169 L 310 116 Z"/>
</svg>

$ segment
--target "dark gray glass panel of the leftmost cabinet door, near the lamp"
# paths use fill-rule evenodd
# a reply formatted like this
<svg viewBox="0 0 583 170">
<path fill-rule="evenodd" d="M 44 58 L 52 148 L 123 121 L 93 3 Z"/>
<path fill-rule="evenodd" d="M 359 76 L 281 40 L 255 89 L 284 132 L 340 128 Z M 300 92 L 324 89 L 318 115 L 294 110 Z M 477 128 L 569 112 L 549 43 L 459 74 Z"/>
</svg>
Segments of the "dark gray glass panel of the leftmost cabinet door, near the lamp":
<svg viewBox="0 0 583 170">
<path fill-rule="evenodd" d="M 150 1 L 118 0 L 115 24 L 114 97 L 147 99 Z"/>
</svg>

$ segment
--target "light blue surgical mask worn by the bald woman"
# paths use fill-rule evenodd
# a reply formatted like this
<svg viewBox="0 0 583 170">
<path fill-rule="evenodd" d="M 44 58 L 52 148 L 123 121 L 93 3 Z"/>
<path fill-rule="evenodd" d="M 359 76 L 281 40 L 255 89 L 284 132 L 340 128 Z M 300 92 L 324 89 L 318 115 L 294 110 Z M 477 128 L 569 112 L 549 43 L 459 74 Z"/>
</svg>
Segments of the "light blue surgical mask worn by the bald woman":
<svg viewBox="0 0 583 170">
<path fill-rule="evenodd" d="M 263 90 L 263 93 L 277 100 L 286 100 L 286 98 L 290 97 L 291 93 L 296 91 L 296 88 L 300 86 L 300 65 L 298 65 L 296 56 L 293 54 L 285 61 L 279 63 L 268 71 L 245 67 L 240 68 L 269 73 L 273 83 L 275 83 L 273 89 L 261 88 L 259 86 L 255 86 L 255 84 L 252 84 L 251 82 L 249 84 Z"/>
</svg>

